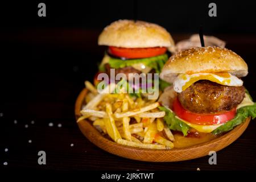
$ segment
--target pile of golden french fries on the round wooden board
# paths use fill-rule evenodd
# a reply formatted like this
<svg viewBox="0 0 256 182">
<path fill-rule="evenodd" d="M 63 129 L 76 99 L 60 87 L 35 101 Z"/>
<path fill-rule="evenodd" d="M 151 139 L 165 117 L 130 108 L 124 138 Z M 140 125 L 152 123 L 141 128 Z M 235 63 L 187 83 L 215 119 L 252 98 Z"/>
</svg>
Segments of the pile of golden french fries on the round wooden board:
<svg viewBox="0 0 256 182">
<path fill-rule="evenodd" d="M 88 118 L 102 133 L 119 144 L 139 148 L 171 149 L 174 136 L 163 121 L 164 111 L 159 102 L 147 98 L 131 97 L 127 93 L 113 93 L 115 84 L 101 93 L 88 81 L 85 86 L 86 105 L 77 122 Z M 110 92 L 109 92 L 110 90 Z"/>
</svg>

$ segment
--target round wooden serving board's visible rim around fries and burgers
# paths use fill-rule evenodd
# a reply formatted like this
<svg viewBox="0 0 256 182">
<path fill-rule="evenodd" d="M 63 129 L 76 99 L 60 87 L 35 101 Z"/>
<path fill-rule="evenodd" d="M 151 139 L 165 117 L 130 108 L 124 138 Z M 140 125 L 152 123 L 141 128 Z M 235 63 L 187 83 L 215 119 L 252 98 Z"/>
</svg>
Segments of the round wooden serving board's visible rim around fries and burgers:
<svg viewBox="0 0 256 182">
<path fill-rule="evenodd" d="M 76 119 L 81 116 L 80 110 L 84 104 L 84 98 L 87 92 L 88 90 L 86 89 L 82 90 L 76 100 Z M 77 124 L 79 125 L 82 133 L 90 140 L 90 142 L 96 144 L 96 146 L 100 147 L 102 150 L 110 152 L 114 155 L 147 162 L 176 162 L 200 158 L 201 156 L 208 155 L 209 151 L 219 151 L 222 148 L 225 148 L 242 135 L 243 131 L 245 131 L 246 127 L 249 125 L 249 122 L 250 118 L 247 118 L 246 122 L 237 126 L 235 129 L 229 131 L 219 138 L 210 140 L 209 142 L 197 144 L 192 147 L 173 148 L 171 150 L 153 150 L 123 146 L 105 138 L 97 129 L 93 127 L 92 122 L 88 120 L 80 121 Z"/>
</svg>

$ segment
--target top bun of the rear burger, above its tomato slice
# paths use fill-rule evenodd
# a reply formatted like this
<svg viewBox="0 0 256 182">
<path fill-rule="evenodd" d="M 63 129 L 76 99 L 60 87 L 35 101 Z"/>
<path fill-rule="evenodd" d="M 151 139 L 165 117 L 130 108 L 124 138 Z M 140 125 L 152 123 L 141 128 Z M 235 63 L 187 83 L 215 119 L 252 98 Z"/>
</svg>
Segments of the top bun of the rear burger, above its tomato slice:
<svg viewBox="0 0 256 182">
<path fill-rule="evenodd" d="M 174 40 L 166 29 L 157 24 L 134 20 L 118 20 L 111 23 L 101 32 L 98 44 L 123 48 L 174 49 Z"/>
</svg>

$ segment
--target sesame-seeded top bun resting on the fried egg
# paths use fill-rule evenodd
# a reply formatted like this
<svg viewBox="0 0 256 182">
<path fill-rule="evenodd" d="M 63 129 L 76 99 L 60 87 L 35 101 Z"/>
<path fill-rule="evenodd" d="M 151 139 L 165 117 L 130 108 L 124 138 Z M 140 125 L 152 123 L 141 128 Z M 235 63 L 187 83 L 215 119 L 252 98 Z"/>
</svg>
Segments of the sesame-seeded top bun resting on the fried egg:
<svg viewBox="0 0 256 182">
<path fill-rule="evenodd" d="M 245 61 L 226 48 L 197 47 L 177 52 L 171 56 L 160 73 L 160 78 L 173 82 L 178 74 L 230 73 L 244 77 L 248 73 Z"/>
</svg>

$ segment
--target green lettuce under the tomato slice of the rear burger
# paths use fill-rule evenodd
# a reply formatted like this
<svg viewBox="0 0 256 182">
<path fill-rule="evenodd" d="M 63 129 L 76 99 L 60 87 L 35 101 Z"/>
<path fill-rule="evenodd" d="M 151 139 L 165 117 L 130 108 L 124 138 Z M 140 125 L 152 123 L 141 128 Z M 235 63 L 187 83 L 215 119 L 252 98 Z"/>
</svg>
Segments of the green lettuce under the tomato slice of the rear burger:
<svg viewBox="0 0 256 182">
<path fill-rule="evenodd" d="M 115 57 L 110 57 L 109 64 L 111 68 L 124 68 L 129 67 L 133 64 L 142 63 L 155 69 L 156 73 L 160 73 L 164 64 L 168 60 L 168 55 L 163 54 L 155 57 L 147 57 L 143 59 L 130 59 L 130 60 L 122 60 Z"/>
</svg>

